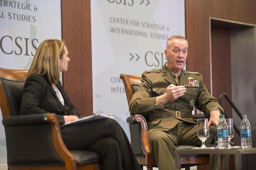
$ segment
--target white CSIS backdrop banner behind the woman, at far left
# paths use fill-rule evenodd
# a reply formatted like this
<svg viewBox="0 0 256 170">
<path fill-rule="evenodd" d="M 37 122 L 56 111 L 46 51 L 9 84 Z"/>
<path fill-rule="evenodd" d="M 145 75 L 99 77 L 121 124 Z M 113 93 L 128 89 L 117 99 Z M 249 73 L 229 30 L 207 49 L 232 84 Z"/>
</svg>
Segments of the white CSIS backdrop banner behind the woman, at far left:
<svg viewBox="0 0 256 170">
<path fill-rule="evenodd" d="M 38 45 L 48 38 L 61 40 L 61 0 L 0 0 L 0 67 L 29 69 Z M 1 123 L 0 163 L 6 162 Z"/>
</svg>

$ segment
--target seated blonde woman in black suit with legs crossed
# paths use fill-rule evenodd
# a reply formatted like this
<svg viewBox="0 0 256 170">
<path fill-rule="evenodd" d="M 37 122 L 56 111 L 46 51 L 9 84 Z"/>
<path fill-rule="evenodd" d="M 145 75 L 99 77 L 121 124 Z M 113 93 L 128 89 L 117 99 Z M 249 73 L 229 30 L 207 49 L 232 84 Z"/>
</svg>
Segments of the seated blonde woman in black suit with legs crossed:
<svg viewBox="0 0 256 170">
<path fill-rule="evenodd" d="M 60 125 L 80 118 L 59 81 L 69 61 L 64 41 L 49 39 L 38 46 L 24 85 L 20 114 L 55 113 Z M 113 119 L 62 126 L 61 136 L 69 150 L 98 152 L 102 170 L 141 169 L 125 132 Z"/>
</svg>

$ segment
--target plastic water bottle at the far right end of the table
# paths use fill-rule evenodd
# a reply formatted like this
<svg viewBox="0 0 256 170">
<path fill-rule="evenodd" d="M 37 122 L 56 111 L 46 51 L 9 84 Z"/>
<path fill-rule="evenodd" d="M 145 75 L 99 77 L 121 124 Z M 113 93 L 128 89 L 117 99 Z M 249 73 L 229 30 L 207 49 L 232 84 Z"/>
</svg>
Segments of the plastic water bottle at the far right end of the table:
<svg viewBox="0 0 256 170">
<path fill-rule="evenodd" d="M 247 115 L 243 115 L 243 119 L 240 125 L 241 134 L 241 147 L 242 149 L 252 148 L 252 131 L 250 122 L 247 119 Z"/>
</svg>

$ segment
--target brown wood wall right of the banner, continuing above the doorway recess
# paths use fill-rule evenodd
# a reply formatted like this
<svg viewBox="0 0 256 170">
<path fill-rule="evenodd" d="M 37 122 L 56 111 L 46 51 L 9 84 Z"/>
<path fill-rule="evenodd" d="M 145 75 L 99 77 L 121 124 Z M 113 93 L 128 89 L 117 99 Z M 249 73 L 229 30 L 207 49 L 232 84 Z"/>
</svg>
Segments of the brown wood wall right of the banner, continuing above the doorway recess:
<svg viewBox="0 0 256 170">
<path fill-rule="evenodd" d="M 256 1 L 185 0 L 185 6 L 186 37 L 189 41 L 187 70 L 200 72 L 204 76 L 207 88 L 210 89 L 210 69 L 207 69 L 210 68 L 209 17 L 255 24 Z M 202 69 L 202 66 L 205 68 Z"/>
</svg>

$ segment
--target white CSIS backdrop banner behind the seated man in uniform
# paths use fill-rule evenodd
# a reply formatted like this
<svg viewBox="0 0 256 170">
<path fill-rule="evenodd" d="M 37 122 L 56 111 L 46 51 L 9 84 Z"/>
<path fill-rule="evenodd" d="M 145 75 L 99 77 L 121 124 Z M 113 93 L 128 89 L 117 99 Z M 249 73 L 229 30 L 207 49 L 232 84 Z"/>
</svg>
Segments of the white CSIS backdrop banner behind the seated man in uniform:
<svg viewBox="0 0 256 170">
<path fill-rule="evenodd" d="M 130 137 L 121 73 L 159 69 L 166 40 L 185 36 L 184 0 L 91 0 L 93 111 L 112 115 Z"/>
</svg>

